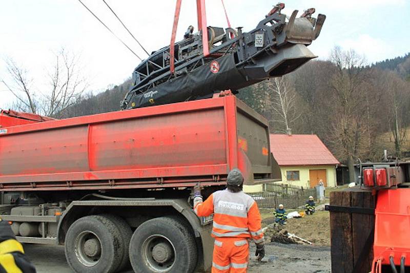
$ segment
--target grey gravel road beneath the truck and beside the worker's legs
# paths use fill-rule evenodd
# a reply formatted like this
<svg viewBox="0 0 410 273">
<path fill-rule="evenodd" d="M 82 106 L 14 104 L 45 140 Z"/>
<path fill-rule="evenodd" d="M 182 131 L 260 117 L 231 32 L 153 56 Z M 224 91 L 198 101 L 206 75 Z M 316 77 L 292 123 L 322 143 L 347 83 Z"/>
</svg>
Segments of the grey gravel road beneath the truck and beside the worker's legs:
<svg viewBox="0 0 410 273">
<path fill-rule="evenodd" d="M 72 273 L 66 262 L 64 247 L 56 245 L 25 244 L 27 256 L 39 273 Z M 287 273 L 287 272 L 331 272 L 330 247 L 308 245 L 284 245 L 269 243 L 266 246 L 266 262 L 259 263 L 253 256 L 255 247 L 251 246 L 248 273 Z M 131 273 L 128 271 L 127 273 Z"/>
</svg>

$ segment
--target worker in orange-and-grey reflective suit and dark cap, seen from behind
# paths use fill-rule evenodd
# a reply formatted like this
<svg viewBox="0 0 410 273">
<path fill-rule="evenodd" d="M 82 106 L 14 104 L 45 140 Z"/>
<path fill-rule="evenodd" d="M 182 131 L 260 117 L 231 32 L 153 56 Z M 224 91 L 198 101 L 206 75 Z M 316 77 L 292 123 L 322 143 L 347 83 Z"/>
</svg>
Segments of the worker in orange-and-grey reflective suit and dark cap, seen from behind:
<svg viewBox="0 0 410 273">
<path fill-rule="evenodd" d="M 202 202 L 200 186 L 194 188 L 194 210 L 198 216 L 214 214 L 215 238 L 212 273 L 242 273 L 248 268 L 249 239 L 256 244 L 255 256 L 265 256 L 264 238 L 258 205 L 243 193 L 243 176 L 238 169 L 227 178 L 226 190 L 213 193 Z"/>
</svg>

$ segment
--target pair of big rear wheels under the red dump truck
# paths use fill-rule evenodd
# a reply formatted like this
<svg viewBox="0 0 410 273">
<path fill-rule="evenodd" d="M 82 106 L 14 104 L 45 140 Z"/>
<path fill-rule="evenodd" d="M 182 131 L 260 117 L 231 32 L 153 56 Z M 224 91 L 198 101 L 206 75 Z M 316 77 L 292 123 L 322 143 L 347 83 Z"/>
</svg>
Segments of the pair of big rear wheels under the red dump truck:
<svg viewBox="0 0 410 273">
<path fill-rule="evenodd" d="M 66 258 L 75 272 L 191 273 L 197 263 L 194 237 L 182 221 L 160 217 L 132 233 L 114 215 L 86 216 L 68 229 Z"/>
</svg>

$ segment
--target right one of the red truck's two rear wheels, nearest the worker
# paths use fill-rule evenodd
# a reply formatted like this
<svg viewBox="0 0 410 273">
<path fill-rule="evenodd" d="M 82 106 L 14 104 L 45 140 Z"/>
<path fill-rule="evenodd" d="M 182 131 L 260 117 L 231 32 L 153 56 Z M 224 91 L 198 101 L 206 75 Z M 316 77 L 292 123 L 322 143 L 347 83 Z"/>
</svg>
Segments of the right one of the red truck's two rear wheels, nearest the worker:
<svg viewBox="0 0 410 273">
<path fill-rule="evenodd" d="M 197 262 L 194 236 L 174 218 L 148 220 L 132 235 L 130 261 L 137 273 L 192 273 Z"/>
</svg>

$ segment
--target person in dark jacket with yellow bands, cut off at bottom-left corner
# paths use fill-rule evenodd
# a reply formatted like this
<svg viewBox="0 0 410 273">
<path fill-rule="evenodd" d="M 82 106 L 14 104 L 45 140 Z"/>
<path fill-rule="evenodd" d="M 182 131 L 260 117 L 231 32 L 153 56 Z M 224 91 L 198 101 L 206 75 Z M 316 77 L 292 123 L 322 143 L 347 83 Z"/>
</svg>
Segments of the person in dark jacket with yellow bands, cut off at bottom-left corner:
<svg viewBox="0 0 410 273">
<path fill-rule="evenodd" d="M 7 221 L 0 218 L 0 272 L 35 273 L 34 266 L 24 255 L 22 244 L 16 241 Z"/>
</svg>

